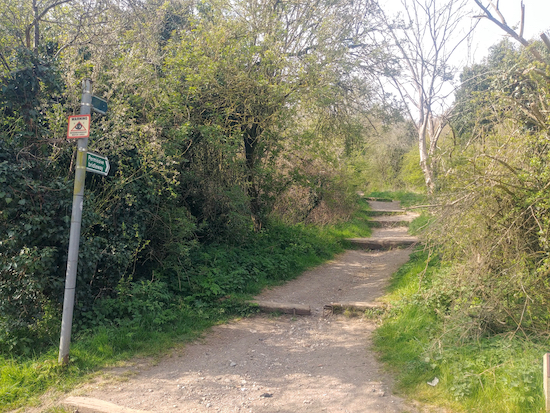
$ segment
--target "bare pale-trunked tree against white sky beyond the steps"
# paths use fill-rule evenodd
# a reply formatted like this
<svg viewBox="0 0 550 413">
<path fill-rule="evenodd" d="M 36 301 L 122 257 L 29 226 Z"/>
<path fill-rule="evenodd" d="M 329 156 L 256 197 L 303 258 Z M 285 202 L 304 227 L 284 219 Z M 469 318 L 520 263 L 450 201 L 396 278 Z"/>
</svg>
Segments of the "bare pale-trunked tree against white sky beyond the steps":
<svg viewBox="0 0 550 413">
<path fill-rule="evenodd" d="M 389 71 L 409 117 L 416 125 L 420 167 L 429 193 L 434 190 L 433 156 L 451 107 L 446 87 L 453 79 L 451 57 L 473 28 L 464 29 L 467 0 L 402 0 L 403 14 L 390 19 L 382 11 L 399 56 Z"/>
</svg>

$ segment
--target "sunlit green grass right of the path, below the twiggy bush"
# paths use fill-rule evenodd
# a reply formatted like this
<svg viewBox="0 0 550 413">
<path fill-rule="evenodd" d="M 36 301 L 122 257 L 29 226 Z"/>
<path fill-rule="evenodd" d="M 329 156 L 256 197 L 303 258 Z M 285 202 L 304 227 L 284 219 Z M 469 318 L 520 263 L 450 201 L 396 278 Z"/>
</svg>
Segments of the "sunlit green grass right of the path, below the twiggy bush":
<svg viewBox="0 0 550 413">
<path fill-rule="evenodd" d="M 433 256 L 432 256 L 433 257 Z M 543 412 L 540 338 L 461 339 L 426 302 L 420 288 L 444 273 L 437 259 L 417 251 L 393 277 L 385 301 L 391 311 L 374 336 L 375 348 L 410 397 L 452 412 Z M 421 282 L 422 279 L 422 282 Z M 427 384 L 437 377 L 435 387 Z"/>
</svg>

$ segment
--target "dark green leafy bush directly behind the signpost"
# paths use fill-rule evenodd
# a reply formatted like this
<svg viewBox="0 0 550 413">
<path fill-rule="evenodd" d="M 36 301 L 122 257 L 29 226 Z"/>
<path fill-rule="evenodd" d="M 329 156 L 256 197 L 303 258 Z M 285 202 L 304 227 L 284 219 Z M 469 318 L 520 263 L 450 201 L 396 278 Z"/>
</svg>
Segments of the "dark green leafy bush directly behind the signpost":
<svg viewBox="0 0 550 413">
<path fill-rule="evenodd" d="M 64 92 L 60 73 L 33 54 L 22 53 L 19 59 L 21 69 L 1 79 L 0 327 L 5 334 L 0 351 L 8 354 L 36 350 L 38 343 L 49 343 L 58 333 L 47 321 L 61 312 L 73 189 L 72 143 L 48 140 L 59 133 L 59 119 L 66 122 L 59 103 Z M 166 174 L 155 167 L 163 163 L 163 155 L 152 157 L 147 151 L 126 146 L 110 156 L 109 177 L 88 177 L 77 327 L 98 298 L 115 295 L 123 277 L 149 275 L 149 258 L 162 260 L 173 251 L 171 238 L 157 230 L 158 205 L 166 210 L 174 205 Z M 192 219 L 176 225 L 188 216 L 181 207 L 179 212 L 172 231 L 181 246 L 193 237 L 195 227 Z M 184 252 L 178 251 L 182 259 Z"/>
</svg>

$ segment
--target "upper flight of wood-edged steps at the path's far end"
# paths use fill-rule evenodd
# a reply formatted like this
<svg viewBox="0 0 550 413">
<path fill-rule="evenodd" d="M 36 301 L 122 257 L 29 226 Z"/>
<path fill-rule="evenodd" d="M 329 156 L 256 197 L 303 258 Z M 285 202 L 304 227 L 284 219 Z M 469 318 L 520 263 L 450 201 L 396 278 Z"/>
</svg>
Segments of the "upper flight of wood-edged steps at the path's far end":
<svg viewBox="0 0 550 413">
<path fill-rule="evenodd" d="M 408 225 L 418 217 L 417 213 L 401 208 L 398 201 L 368 201 L 375 228 L 368 238 L 348 238 L 352 245 L 369 250 L 405 248 L 418 243 L 418 238 L 408 234 Z"/>
</svg>

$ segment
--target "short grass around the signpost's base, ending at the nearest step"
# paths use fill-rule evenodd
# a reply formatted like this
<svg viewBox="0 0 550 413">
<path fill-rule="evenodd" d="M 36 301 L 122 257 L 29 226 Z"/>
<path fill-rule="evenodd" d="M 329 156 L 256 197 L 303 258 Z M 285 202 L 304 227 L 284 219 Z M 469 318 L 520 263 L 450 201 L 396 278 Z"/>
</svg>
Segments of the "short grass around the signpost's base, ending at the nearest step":
<svg viewBox="0 0 550 413">
<path fill-rule="evenodd" d="M 100 327 L 92 333 L 75 334 L 67 367 L 57 363 L 57 347 L 53 345 L 31 357 L 0 357 L 0 411 L 37 405 L 48 390 L 68 391 L 102 367 L 163 353 L 224 319 L 227 317 L 212 309 L 208 313 L 182 310 L 178 322 L 165 331 Z"/>
</svg>

